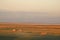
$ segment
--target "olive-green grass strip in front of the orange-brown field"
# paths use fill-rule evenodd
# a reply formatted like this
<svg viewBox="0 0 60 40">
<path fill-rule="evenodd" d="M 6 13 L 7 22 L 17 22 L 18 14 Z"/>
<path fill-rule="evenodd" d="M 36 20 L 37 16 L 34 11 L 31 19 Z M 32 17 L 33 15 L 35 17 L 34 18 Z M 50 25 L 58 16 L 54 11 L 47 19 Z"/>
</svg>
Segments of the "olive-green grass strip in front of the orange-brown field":
<svg viewBox="0 0 60 40">
<path fill-rule="evenodd" d="M 38 33 L 17 33 L 0 35 L 0 40 L 60 40 L 60 36 L 45 35 Z"/>
</svg>

